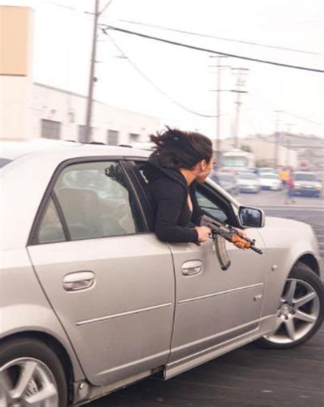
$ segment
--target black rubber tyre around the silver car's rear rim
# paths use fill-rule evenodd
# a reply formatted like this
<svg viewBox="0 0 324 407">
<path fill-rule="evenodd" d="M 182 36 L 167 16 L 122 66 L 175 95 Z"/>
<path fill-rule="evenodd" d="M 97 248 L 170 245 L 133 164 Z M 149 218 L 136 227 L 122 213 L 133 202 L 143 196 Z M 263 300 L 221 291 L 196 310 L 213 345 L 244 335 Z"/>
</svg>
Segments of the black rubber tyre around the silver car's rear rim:
<svg viewBox="0 0 324 407">
<path fill-rule="evenodd" d="M 68 405 L 66 375 L 53 349 L 41 341 L 29 338 L 14 338 L 0 343 L 0 368 L 18 358 L 33 358 L 44 363 L 55 379 L 59 395 L 59 407 Z"/>
</svg>

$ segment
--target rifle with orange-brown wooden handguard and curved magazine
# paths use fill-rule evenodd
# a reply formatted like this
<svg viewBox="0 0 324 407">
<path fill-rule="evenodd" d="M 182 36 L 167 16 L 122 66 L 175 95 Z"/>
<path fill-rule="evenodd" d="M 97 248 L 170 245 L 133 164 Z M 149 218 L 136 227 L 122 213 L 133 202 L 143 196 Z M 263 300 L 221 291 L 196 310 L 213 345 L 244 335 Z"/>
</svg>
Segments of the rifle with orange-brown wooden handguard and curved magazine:
<svg viewBox="0 0 324 407">
<path fill-rule="evenodd" d="M 249 239 L 248 237 L 242 237 L 239 231 L 226 223 L 217 221 L 216 219 L 210 218 L 207 215 L 202 216 L 200 219 L 201 226 L 207 226 L 211 229 L 212 238 L 215 244 L 215 251 L 219 264 L 222 270 L 227 270 L 230 267 L 230 258 L 228 257 L 228 252 L 226 250 L 226 241 L 231 243 L 243 243 L 244 249 L 252 249 L 258 254 L 262 254 L 262 250 L 255 246 L 256 240 Z"/>
</svg>

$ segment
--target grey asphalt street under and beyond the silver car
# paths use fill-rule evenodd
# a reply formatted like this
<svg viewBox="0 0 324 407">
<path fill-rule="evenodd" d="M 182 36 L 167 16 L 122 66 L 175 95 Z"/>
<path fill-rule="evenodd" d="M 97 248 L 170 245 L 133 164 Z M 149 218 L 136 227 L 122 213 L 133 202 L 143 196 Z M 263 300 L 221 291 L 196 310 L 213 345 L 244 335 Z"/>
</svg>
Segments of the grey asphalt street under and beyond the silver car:
<svg viewBox="0 0 324 407">
<path fill-rule="evenodd" d="M 310 223 L 324 261 L 323 199 L 297 198 L 282 206 L 284 193 L 239 195 L 241 204 L 266 215 Z M 274 351 L 249 344 L 163 382 L 153 376 L 87 407 L 323 407 L 324 327 L 308 343 Z"/>
</svg>

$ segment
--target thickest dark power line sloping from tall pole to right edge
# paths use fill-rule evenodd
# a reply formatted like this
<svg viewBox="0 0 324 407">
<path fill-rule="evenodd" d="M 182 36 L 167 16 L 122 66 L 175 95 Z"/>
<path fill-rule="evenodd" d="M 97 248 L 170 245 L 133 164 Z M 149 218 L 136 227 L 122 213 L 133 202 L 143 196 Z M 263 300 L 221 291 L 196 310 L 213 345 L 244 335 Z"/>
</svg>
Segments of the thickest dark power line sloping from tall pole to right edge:
<svg viewBox="0 0 324 407">
<path fill-rule="evenodd" d="M 103 25 L 103 26 L 106 27 L 107 29 L 113 29 L 115 31 L 124 32 L 125 34 L 131 34 L 131 35 L 134 35 L 134 36 L 139 36 L 141 38 L 148 38 L 149 40 L 165 42 L 167 44 L 176 45 L 178 47 L 195 49 L 195 51 L 204 51 L 204 52 L 208 52 L 208 53 L 216 53 L 218 55 L 229 56 L 229 57 L 238 58 L 238 59 L 241 59 L 241 60 L 247 60 L 247 61 L 252 61 L 252 62 L 260 62 L 262 64 L 270 64 L 270 65 L 274 65 L 274 66 L 284 66 L 286 68 L 300 69 L 302 71 L 312 71 L 312 72 L 324 73 L 324 71 L 321 70 L 321 69 L 307 68 L 306 66 L 282 64 L 281 62 L 273 62 L 273 61 L 268 61 L 268 60 L 259 60 L 257 58 L 249 58 L 249 57 L 245 57 L 245 56 L 238 56 L 238 55 L 235 55 L 235 54 L 232 54 L 232 53 L 215 51 L 215 49 L 207 49 L 207 48 L 202 48 L 202 47 L 195 47 L 194 45 L 184 44 L 183 42 L 176 42 L 176 41 L 172 41 L 172 40 L 165 40 L 164 38 L 159 38 L 159 37 L 155 37 L 155 36 L 148 36 L 146 34 L 142 34 L 142 33 L 139 33 L 139 32 L 130 31 L 129 29 L 122 29 L 122 28 L 118 28 L 118 27 L 113 27 L 112 25 Z"/>
</svg>

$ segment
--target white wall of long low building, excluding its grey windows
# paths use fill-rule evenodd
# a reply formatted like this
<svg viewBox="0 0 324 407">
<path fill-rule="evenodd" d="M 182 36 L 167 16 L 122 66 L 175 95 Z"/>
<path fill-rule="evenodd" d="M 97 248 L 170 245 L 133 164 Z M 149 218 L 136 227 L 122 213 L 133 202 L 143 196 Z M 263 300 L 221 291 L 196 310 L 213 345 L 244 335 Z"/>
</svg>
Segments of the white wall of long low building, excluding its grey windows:
<svg viewBox="0 0 324 407">
<path fill-rule="evenodd" d="M 61 123 L 59 138 L 79 140 L 79 126 L 85 123 L 87 99 L 42 84 L 32 84 L 31 87 L 28 106 L 32 122 L 31 136 L 42 136 L 42 119 L 45 119 Z M 131 134 L 138 134 L 136 141 L 147 141 L 148 135 L 157 132 L 161 123 L 156 117 L 94 101 L 92 127 L 92 141 L 107 143 L 108 130 L 113 130 L 118 132 L 118 144 L 122 144 L 131 141 Z"/>
</svg>

